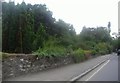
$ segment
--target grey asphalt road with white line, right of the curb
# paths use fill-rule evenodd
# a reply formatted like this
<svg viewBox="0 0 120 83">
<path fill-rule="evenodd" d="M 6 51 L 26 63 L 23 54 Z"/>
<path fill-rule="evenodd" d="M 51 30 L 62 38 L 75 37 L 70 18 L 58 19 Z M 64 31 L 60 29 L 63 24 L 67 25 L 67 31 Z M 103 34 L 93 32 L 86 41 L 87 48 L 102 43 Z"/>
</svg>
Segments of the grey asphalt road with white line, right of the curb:
<svg viewBox="0 0 120 83">
<path fill-rule="evenodd" d="M 118 63 L 120 64 L 118 56 L 114 54 L 105 63 L 92 70 L 78 81 L 118 81 L 118 73 L 120 73 L 118 72 L 120 68 Z"/>
</svg>

